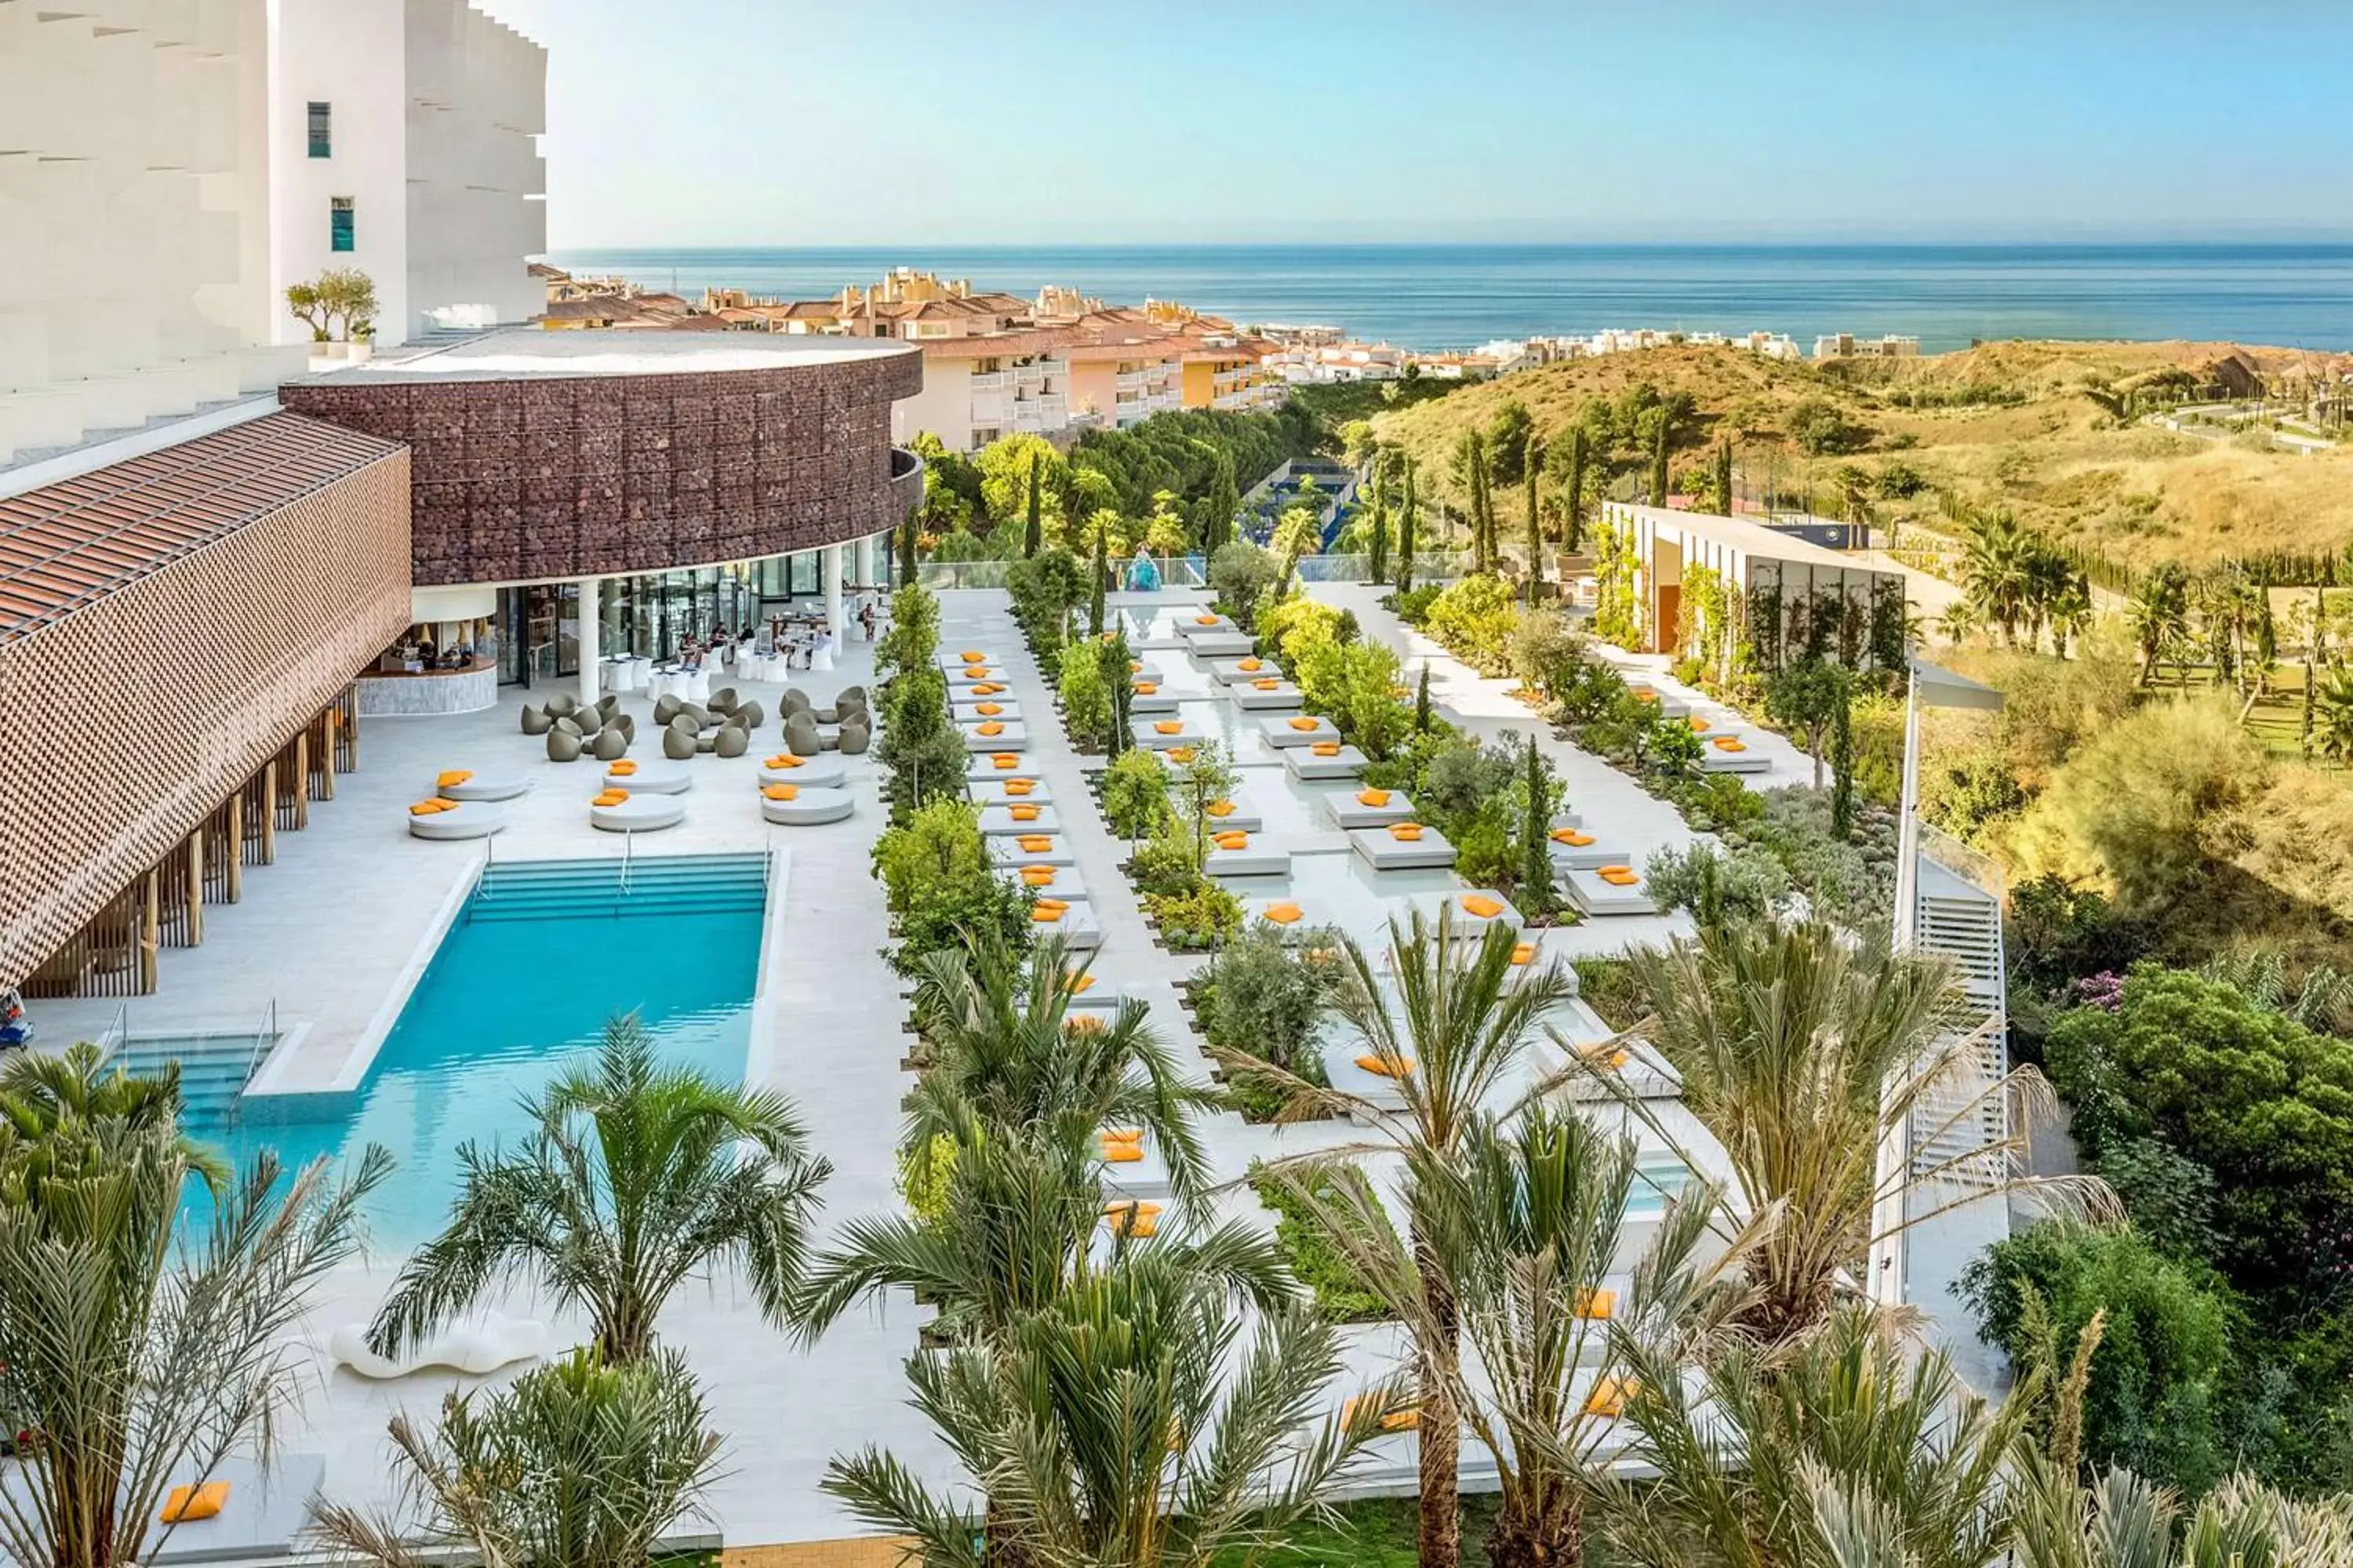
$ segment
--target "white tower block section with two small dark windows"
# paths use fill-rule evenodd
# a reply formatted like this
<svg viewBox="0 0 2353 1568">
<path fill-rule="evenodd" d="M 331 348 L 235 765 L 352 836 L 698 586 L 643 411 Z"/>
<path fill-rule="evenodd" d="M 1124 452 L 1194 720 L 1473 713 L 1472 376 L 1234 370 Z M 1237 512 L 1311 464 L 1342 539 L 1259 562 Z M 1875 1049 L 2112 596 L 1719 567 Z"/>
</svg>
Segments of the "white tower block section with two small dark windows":
<svg viewBox="0 0 2353 1568">
<path fill-rule="evenodd" d="M 546 49 L 464 0 L 273 0 L 271 292 L 376 284 L 376 343 L 546 308 Z M 282 343 L 311 336 L 278 303 Z"/>
</svg>

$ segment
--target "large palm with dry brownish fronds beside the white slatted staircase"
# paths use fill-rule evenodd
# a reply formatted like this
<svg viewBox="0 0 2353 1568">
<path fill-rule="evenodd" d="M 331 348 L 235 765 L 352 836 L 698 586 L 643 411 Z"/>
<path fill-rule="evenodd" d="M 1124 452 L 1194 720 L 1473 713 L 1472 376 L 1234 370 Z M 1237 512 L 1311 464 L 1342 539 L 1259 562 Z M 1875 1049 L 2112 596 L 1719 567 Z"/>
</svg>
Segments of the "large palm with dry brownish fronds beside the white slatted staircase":
<svg viewBox="0 0 2353 1568">
<path fill-rule="evenodd" d="M 1873 1241 L 1969 1201 L 2113 1208 L 2094 1178 L 2014 1173 L 2024 1147 L 2014 1135 L 1918 1175 L 1878 1168 L 1882 1143 L 1915 1112 L 1929 1121 L 1920 1147 L 1937 1147 L 1984 1107 L 2042 1088 L 2031 1067 L 1984 1079 L 1979 1032 L 1995 1025 L 1969 1027 L 1941 959 L 1889 952 L 1878 936 L 1857 943 L 1824 922 L 1755 922 L 1708 924 L 1631 961 L 1657 1009 L 1645 1027 L 1682 1074 L 1682 1107 L 1722 1145 L 1739 1213 L 1772 1220 L 1746 1258 L 1755 1295 L 1741 1314 L 1762 1340 L 1817 1328 Z M 1657 1107 L 1600 1065 L 1572 1060 L 1680 1150 Z"/>
</svg>

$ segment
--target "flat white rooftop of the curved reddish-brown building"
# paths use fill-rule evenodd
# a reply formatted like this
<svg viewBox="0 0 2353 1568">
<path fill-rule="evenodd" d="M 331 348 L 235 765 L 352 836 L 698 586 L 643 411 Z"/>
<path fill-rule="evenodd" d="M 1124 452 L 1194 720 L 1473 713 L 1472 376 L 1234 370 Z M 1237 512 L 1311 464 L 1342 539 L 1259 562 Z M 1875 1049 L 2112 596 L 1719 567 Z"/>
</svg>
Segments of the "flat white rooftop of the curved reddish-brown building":
<svg viewBox="0 0 2353 1568">
<path fill-rule="evenodd" d="M 518 381 L 541 376 L 701 376 L 791 364 L 840 364 L 915 353 L 889 339 L 821 339 L 774 331 L 546 331 L 515 327 L 407 357 L 329 371 L 334 386 L 386 381 Z"/>
</svg>

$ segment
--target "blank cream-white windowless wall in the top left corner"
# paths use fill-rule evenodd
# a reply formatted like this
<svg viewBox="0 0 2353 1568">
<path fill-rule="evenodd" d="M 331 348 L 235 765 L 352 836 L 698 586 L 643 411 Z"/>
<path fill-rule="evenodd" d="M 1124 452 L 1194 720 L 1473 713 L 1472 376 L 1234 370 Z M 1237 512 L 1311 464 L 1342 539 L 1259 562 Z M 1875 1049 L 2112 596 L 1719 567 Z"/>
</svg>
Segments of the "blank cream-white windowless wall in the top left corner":
<svg viewBox="0 0 2353 1568">
<path fill-rule="evenodd" d="M 264 0 L 0 0 L 0 468 L 287 369 L 266 61 Z"/>
</svg>

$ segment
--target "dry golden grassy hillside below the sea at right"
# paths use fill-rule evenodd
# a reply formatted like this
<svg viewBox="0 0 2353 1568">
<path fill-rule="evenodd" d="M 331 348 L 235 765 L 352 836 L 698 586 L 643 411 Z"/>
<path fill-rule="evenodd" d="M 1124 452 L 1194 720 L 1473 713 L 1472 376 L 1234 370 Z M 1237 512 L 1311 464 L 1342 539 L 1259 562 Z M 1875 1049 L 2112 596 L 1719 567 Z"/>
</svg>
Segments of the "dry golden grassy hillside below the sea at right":
<svg viewBox="0 0 2353 1568">
<path fill-rule="evenodd" d="M 2266 550 L 2341 550 L 2353 543 L 2353 444 L 2315 456 L 2273 451 L 2252 437 L 2209 440 L 2146 423 L 2120 423 L 2092 393 L 2132 388 L 2167 371 L 2188 381 L 2273 388 L 2292 376 L 2341 371 L 2329 360 L 2233 343 L 1986 343 L 1920 360 L 1828 367 L 1760 360 L 1734 348 L 1654 348 L 1572 360 L 1466 386 L 1409 409 L 1384 411 L 1374 428 L 1414 454 L 1452 496 L 1449 454 L 1461 433 L 1489 425 L 1520 402 L 1551 437 L 1595 397 L 1617 400 L 1635 383 L 1661 395 L 1689 393 L 1697 416 L 1678 428 L 1675 473 L 1706 465 L 1706 449 L 1729 435 L 1744 487 L 1774 473 L 1802 489 L 1807 470 L 1821 510 L 1838 510 L 1833 473 L 1889 468 L 1918 475 L 1911 496 L 1871 501 L 1882 524 L 1937 522 L 1939 491 L 1972 505 L 2007 505 L 2024 522 L 2101 555 L 2146 567 L 2158 559 L 2209 562 Z M 1821 400 L 1854 425 L 1847 454 L 1807 458 L 1788 440 L 1788 414 Z M 1642 458 L 1624 447 L 1619 494 Z"/>
</svg>

